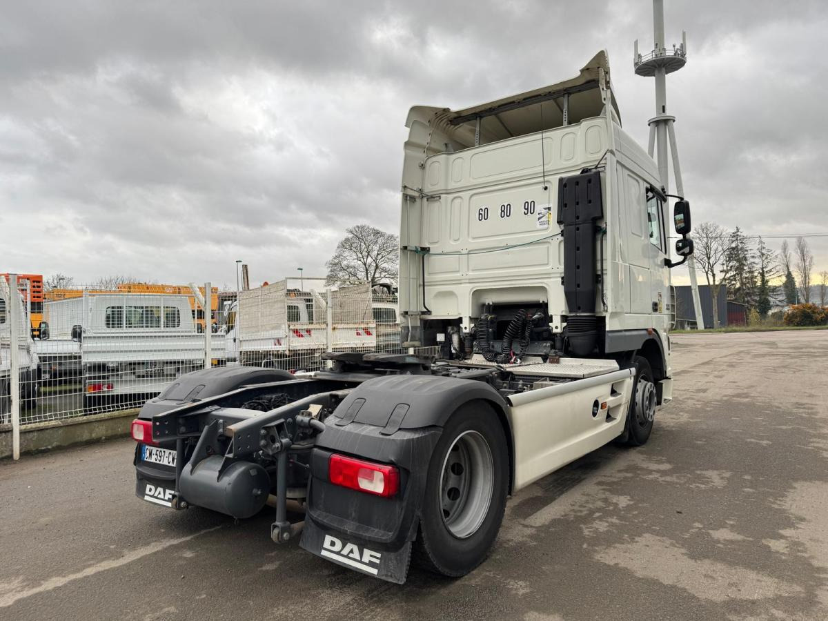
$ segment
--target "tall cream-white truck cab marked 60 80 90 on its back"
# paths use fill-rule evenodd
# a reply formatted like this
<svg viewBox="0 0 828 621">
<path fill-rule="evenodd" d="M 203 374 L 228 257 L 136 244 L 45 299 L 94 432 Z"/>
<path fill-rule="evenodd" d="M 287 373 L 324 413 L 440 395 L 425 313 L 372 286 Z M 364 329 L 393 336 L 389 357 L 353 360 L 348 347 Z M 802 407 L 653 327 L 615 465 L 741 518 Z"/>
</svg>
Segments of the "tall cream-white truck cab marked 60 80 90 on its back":
<svg viewBox="0 0 828 621">
<path fill-rule="evenodd" d="M 407 127 L 403 341 L 453 340 L 447 356 L 477 342 L 497 350 L 526 309 L 539 316 L 523 356 L 638 353 L 669 399 L 667 196 L 621 127 L 606 54 L 542 89 L 456 111 L 416 106 Z M 570 221 L 567 209 L 581 213 Z"/>
</svg>

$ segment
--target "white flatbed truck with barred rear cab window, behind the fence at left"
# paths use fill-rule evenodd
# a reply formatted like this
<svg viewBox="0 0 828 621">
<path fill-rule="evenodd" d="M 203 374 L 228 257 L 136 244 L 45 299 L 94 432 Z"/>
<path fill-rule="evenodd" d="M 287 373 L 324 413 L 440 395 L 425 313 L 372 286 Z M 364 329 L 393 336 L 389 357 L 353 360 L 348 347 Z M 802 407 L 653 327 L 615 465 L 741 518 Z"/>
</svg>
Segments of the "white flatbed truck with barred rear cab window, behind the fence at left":
<svg viewBox="0 0 828 621">
<path fill-rule="evenodd" d="M 35 343 L 42 377 L 79 379 L 85 412 L 154 396 L 204 367 L 205 337 L 187 296 L 84 291 L 46 301 L 43 311 L 46 332 Z"/>
</svg>

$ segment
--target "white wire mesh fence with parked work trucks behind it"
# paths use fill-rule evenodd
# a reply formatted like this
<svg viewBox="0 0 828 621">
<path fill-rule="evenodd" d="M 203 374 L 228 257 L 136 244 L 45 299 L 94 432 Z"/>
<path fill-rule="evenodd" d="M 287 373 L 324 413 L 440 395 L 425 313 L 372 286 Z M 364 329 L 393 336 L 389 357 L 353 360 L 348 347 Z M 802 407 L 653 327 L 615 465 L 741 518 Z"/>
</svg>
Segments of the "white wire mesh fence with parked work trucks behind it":
<svg viewBox="0 0 828 621">
<path fill-rule="evenodd" d="M 71 286 L 44 291 L 32 308 L 16 280 L 0 277 L 0 424 L 17 431 L 141 407 L 202 368 L 312 372 L 328 364 L 325 352 L 413 351 L 400 342 L 396 296 L 366 283 L 291 279 L 242 291 L 238 301 L 209 283 L 189 292 Z"/>
</svg>

